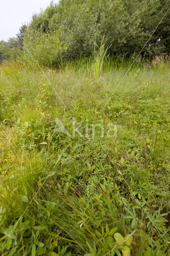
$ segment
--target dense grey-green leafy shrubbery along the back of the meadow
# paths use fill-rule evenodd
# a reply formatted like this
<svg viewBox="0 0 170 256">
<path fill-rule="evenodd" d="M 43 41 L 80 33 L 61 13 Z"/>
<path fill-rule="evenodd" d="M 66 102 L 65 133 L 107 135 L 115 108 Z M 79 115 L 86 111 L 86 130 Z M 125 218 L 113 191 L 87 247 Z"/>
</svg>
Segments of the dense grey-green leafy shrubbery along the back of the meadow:
<svg viewBox="0 0 170 256">
<path fill-rule="evenodd" d="M 98 45 L 103 35 L 110 37 L 106 47 L 113 40 L 110 54 L 131 56 L 142 50 L 142 55 L 154 56 L 170 50 L 168 8 L 165 0 L 61 0 L 33 15 L 24 42 L 40 64 L 52 66 L 59 58 L 90 56 L 95 34 Z M 14 58 L 7 44 L 0 44 L 1 59 Z M 21 56 L 29 59 L 24 48 Z"/>
</svg>

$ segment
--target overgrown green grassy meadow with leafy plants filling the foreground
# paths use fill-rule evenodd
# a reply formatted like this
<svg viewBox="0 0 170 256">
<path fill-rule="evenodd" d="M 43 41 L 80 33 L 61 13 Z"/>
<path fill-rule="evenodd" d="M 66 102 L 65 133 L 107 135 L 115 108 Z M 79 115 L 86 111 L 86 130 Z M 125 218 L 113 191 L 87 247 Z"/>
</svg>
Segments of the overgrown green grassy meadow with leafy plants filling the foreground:
<svg viewBox="0 0 170 256">
<path fill-rule="evenodd" d="M 168 255 L 169 65 L 95 64 L 0 66 L 0 255 Z"/>
</svg>

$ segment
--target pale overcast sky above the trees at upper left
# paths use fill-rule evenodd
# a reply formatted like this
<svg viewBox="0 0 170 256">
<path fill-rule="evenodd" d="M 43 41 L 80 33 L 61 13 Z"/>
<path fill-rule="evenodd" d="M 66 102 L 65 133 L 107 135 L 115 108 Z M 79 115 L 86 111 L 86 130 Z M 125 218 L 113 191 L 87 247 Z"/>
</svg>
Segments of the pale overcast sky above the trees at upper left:
<svg viewBox="0 0 170 256">
<path fill-rule="evenodd" d="M 0 40 L 16 36 L 22 23 L 28 23 L 33 13 L 45 10 L 51 0 L 0 0 Z M 59 0 L 54 0 L 58 3 Z"/>
</svg>

